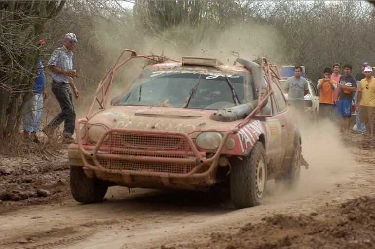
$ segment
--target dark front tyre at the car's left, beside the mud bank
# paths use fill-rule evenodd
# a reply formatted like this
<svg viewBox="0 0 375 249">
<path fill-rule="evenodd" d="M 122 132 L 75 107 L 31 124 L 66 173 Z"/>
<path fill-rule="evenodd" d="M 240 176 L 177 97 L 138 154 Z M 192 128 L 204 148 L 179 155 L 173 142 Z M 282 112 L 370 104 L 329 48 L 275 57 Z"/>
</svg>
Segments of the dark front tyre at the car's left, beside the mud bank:
<svg viewBox="0 0 375 249">
<path fill-rule="evenodd" d="M 89 178 L 83 168 L 70 166 L 70 192 L 73 198 L 82 203 L 100 202 L 107 192 L 108 186 L 97 178 Z"/>
</svg>

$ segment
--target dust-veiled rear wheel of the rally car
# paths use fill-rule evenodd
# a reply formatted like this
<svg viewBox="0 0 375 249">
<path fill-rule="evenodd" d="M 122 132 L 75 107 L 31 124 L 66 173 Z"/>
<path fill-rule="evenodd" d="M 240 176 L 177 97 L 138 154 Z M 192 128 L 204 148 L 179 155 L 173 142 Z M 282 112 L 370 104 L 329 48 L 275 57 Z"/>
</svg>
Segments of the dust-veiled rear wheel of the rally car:
<svg viewBox="0 0 375 249">
<path fill-rule="evenodd" d="M 300 181 L 301 174 L 301 164 L 302 164 L 302 149 L 300 142 L 297 142 L 297 146 L 294 149 L 292 165 L 289 168 L 289 171 L 275 179 L 276 184 L 283 184 L 288 189 L 293 189 L 297 186 Z"/>
</svg>

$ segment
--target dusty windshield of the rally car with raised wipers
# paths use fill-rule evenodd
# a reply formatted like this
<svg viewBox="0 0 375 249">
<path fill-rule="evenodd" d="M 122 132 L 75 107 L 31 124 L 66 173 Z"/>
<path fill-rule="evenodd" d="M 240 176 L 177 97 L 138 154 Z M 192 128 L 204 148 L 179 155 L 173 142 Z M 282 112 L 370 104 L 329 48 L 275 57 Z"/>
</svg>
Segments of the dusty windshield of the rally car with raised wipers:
<svg viewBox="0 0 375 249">
<path fill-rule="evenodd" d="M 218 110 L 253 100 L 251 76 L 216 69 L 146 69 L 114 105 Z"/>
</svg>

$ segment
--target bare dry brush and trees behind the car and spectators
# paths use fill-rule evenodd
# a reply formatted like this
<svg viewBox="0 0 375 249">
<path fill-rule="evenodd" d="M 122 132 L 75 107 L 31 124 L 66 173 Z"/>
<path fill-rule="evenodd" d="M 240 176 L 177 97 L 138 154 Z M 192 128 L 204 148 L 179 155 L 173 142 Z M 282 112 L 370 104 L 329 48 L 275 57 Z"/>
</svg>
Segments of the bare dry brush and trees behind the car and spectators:
<svg viewBox="0 0 375 249">
<path fill-rule="evenodd" d="M 278 65 L 304 65 L 314 81 L 334 63 L 350 63 L 356 73 L 362 61 L 375 62 L 375 12 L 365 1 L 136 1 L 133 9 L 127 6 L 121 1 L 0 3 L 2 143 L 19 132 L 24 108 L 19 97 L 30 95 L 38 58 L 46 64 L 69 32 L 79 41 L 74 66 L 84 97 L 80 106 L 90 102 L 85 97 L 125 48 L 224 63 L 236 56 L 267 56 Z M 39 37 L 45 47 L 36 46 Z M 140 70 L 144 64 L 136 66 Z M 120 74 L 115 87 L 128 83 L 135 71 Z M 47 77 L 47 87 L 50 83 Z M 50 94 L 52 103 L 53 98 Z"/>
</svg>

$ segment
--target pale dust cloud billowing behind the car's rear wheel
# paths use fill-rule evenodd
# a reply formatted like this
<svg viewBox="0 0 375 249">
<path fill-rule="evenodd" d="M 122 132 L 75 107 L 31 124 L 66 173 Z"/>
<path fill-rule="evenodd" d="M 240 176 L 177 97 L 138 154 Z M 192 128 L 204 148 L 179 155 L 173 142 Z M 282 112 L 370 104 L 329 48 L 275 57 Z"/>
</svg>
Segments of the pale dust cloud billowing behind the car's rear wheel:
<svg viewBox="0 0 375 249">
<path fill-rule="evenodd" d="M 312 115 L 312 114 L 310 114 Z M 293 191 L 276 189 L 271 181 L 267 202 L 279 202 L 325 193 L 345 182 L 356 171 L 353 151 L 340 137 L 337 124 L 331 121 L 305 122 L 299 127 L 302 137 L 302 155 L 309 169 L 301 168 L 300 183 Z M 317 196 L 319 198 L 319 196 Z"/>
</svg>

